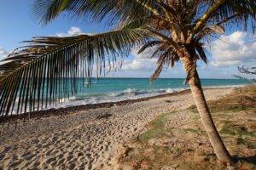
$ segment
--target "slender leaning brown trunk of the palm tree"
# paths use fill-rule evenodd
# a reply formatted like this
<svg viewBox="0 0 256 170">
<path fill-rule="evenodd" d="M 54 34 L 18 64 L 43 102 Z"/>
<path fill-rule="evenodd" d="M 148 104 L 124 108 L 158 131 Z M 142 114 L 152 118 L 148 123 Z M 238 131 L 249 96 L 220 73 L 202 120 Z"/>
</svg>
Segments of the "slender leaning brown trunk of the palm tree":
<svg viewBox="0 0 256 170">
<path fill-rule="evenodd" d="M 217 155 L 219 161 L 232 164 L 233 161 L 231 159 L 230 153 L 225 148 L 224 143 L 218 134 L 217 128 L 214 125 L 211 113 L 207 106 L 207 101 L 205 99 L 203 90 L 201 88 L 200 78 L 196 71 L 196 64 L 195 64 L 196 60 L 193 61 L 193 59 L 188 59 L 186 57 L 184 57 L 182 60 L 183 60 L 184 69 L 189 75 L 188 83 L 189 83 L 193 98 L 195 100 L 195 105 L 201 116 L 201 121 L 203 122 L 205 130 L 207 131 L 207 135 L 208 135 L 208 138 L 210 139 L 213 150 Z"/>
</svg>

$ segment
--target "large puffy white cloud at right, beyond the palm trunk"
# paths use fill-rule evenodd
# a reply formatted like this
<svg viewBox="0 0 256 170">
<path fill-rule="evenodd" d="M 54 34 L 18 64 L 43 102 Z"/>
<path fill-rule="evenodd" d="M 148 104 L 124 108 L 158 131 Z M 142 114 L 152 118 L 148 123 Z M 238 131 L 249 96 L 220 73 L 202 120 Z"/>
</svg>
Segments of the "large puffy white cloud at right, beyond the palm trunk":
<svg viewBox="0 0 256 170">
<path fill-rule="evenodd" d="M 256 61 L 256 39 L 242 31 L 222 36 L 212 42 L 212 65 L 247 65 Z"/>
</svg>

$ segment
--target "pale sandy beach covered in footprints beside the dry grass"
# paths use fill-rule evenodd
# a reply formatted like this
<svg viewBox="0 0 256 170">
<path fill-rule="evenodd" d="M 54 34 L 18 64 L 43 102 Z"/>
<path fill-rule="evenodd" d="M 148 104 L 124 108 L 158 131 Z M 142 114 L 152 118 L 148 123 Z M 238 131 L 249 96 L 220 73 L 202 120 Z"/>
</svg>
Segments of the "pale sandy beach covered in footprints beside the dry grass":
<svg viewBox="0 0 256 170">
<path fill-rule="evenodd" d="M 208 99 L 230 94 L 234 88 L 206 89 Z M 119 169 L 122 146 L 156 116 L 193 105 L 192 95 L 180 93 L 153 99 L 33 118 L 3 127 L 0 169 Z M 180 120 L 182 121 L 182 120 Z"/>
</svg>

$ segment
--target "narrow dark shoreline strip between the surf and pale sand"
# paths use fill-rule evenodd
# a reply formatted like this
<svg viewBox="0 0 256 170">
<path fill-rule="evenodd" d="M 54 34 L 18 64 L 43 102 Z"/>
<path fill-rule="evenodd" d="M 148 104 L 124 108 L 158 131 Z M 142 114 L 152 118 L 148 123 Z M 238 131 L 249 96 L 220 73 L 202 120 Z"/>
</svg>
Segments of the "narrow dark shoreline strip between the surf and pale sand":
<svg viewBox="0 0 256 170">
<path fill-rule="evenodd" d="M 206 89 L 223 89 L 223 88 L 241 88 L 246 87 L 249 85 L 235 85 L 235 86 L 220 86 L 220 87 L 204 87 L 203 90 Z M 99 108 L 111 108 L 116 105 L 131 105 L 137 102 L 142 101 L 148 101 L 149 99 L 157 99 L 157 98 L 163 98 L 163 97 L 170 97 L 175 96 L 179 94 L 189 94 L 190 89 L 183 89 L 181 91 L 172 92 L 172 93 L 166 93 L 166 94 L 157 94 L 153 96 L 143 97 L 143 98 L 137 98 L 137 99 L 124 99 L 119 101 L 111 101 L 111 102 L 102 102 L 102 103 L 96 103 L 96 104 L 86 104 L 86 105 L 72 105 L 72 106 L 66 106 L 66 107 L 58 107 L 58 108 L 49 108 L 42 111 L 32 111 L 32 112 L 26 112 L 19 115 L 11 115 L 11 116 L 1 116 L 0 122 L 5 124 L 9 122 L 9 118 L 12 118 L 13 121 L 10 122 L 26 122 L 30 119 L 40 119 L 45 118 L 49 116 L 67 116 L 70 114 L 73 114 L 74 112 L 79 111 L 88 111 L 88 110 L 95 110 Z"/>
</svg>

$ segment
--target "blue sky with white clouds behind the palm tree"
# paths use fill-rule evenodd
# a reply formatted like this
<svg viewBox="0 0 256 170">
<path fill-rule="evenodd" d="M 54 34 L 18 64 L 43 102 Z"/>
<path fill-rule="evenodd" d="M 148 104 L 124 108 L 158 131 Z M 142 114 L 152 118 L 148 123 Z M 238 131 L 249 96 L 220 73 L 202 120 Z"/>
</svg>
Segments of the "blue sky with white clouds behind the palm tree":
<svg viewBox="0 0 256 170">
<path fill-rule="evenodd" d="M 72 36 L 79 33 L 98 33 L 108 31 L 105 23 L 92 23 L 86 20 L 60 16 L 47 26 L 37 23 L 32 14 L 33 0 L 1 0 L 0 6 L 0 59 L 12 50 L 24 46 L 22 41 L 39 36 Z M 234 78 L 237 66 L 255 65 L 256 37 L 244 31 L 228 30 L 227 34 L 211 42 L 207 47 L 209 62 L 198 62 L 202 78 Z M 107 77 L 150 77 L 156 66 L 156 59 L 150 59 L 150 52 L 131 54 L 118 71 L 108 73 Z M 166 68 L 160 77 L 183 78 L 185 73 L 179 63 L 174 68 Z"/>
</svg>

